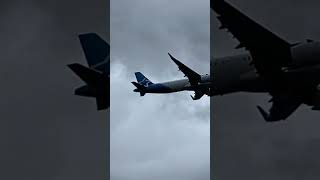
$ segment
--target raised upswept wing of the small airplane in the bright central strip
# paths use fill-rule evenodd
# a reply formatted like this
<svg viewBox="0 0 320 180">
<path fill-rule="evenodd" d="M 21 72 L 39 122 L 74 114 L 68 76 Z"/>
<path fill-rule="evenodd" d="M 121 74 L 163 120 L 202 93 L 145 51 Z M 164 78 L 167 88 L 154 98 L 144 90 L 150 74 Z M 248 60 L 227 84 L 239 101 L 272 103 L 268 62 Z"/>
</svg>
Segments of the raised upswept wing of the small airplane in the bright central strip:
<svg viewBox="0 0 320 180">
<path fill-rule="evenodd" d="M 187 67 L 186 65 L 184 65 L 183 63 L 181 63 L 179 60 L 171 56 L 170 53 L 168 54 L 170 58 L 173 60 L 173 62 L 178 65 L 179 70 L 181 70 L 185 74 L 185 76 L 188 77 L 190 84 L 192 86 L 198 85 L 198 83 L 201 81 L 201 76 L 189 67 Z"/>
</svg>

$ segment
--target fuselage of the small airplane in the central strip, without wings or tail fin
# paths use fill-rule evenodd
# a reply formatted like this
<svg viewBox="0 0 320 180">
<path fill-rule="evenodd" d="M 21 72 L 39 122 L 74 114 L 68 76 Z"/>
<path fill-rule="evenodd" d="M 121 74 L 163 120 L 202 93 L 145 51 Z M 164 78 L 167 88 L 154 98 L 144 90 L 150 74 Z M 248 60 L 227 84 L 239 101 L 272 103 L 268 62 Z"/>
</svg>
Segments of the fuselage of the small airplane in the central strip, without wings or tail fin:
<svg viewBox="0 0 320 180">
<path fill-rule="evenodd" d="M 196 86 L 191 86 L 188 79 L 168 81 L 163 83 L 151 84 L 144 90 L 145 93 L 172 93 L 178 91 L 194 91 L 209 88 L 210 75 L 202 75 L 201 82 Z"/>
</svg>

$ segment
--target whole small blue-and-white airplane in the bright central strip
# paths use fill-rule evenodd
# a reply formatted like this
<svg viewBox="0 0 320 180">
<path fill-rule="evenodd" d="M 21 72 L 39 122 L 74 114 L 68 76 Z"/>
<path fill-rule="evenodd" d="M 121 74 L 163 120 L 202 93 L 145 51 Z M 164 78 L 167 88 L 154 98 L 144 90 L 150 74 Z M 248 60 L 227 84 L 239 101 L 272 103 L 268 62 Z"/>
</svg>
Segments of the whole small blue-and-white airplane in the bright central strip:
<svg viewBox="0 0 320 180">
<path fill-rule="evenodd" d="M 168 55 L 187 78 L 163 83 L 152 83 L 141 72 L 135 72 L 137 82 L 131 82 L 136 87 L 133 91 L 139 92 L 140 96 L 144 96 L 146 93 L 163 94 L 178 91 L 194 91 L 195 95 L 191 96 L 193 100 L 198 100 L 205 94 L 208 95 L 210 75 L 200 75 L 174 58 L 170 53 Z"/>
</svg>

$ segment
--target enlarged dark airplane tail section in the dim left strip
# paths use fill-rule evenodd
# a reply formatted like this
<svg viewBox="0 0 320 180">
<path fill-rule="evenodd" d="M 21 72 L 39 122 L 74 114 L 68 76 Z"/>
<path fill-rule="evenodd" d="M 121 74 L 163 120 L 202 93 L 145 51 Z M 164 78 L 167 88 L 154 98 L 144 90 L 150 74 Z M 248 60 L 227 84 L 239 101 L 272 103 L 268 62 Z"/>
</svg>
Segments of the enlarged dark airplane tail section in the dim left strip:
<svg viewBox="0 0 320 180">
<path fill-rule="evenodd" d="M 86 84 L 74 94 L 96 99 L 97 110 L 110 106 L 110 46 L 95 33 L 80 34 L 79 40 L 89 67 L 79 63 L 68 67 Z"/>
</svg>

